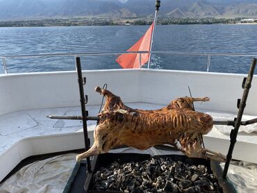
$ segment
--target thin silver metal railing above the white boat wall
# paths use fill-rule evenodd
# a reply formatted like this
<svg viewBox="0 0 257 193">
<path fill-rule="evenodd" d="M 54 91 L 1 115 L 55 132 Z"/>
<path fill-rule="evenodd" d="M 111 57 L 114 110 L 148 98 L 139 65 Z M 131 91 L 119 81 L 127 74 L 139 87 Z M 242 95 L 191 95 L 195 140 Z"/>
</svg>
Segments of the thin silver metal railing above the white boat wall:
<svg viewBox="0 0 257 193">
<path fill-rule="evenodd" d="M 7 59 L 21 59 L 21 58 L 41 58 L 41 57 L 61 57 L 61 56 L 73 56 L 76 58 L 77 56 L 118 56 L 121 54 L 140 54 L 140 67 L 142 67 L 142 54 L 151 53 L 151 54 L 167 54 L 173 56 L 206 56 L 207 63 L 206 63 L 206 72 L 209 72 L 210 65 L 211 65 L 211 57 L 213 56 L 243 56 L 243 57 L 251 57 L 256 58 L 257 53 L 201 53 L 201 52 L 176 52 L 176 51 L 112 51 L 112 52 L 86 52 L 86 53 L 42 53 L 42 54 L 31 54 L 31 55 L 10 55 L 10 56 L 0 56 L 2 60 L 3 71 L 5 74 L 8 74 L 8 67 L 7 67 Z M 149 66 L 147 67 L 150 68 Z M 74 70 L 76 67 L 74 65 Z"/>
</svg>

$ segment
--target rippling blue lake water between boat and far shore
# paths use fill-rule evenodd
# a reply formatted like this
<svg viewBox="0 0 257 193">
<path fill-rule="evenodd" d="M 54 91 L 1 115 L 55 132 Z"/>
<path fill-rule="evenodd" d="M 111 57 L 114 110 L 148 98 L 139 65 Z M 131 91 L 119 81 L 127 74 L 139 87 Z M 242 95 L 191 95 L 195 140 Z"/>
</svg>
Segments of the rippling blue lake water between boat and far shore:
<svg viewBox="0 0 257 193">
<path fill-rule="evenodd" d="M 0 56 L 126 51 L 149 26 L 0 28 Z M 157 26 L 154 51 L 256 53 L 257 25 Z M 117 56 L 83 56 L 83 69 L 119 69 Z M 154 55 L 151 68 L 206 71 L 208 56 Z M 251 57 L 212 56 L 210 72 L 247 73 Z M 9 73 L 74 70 L 74 57 L 10 58 Z M 2 65 L 2 64 L 1 64 Z M 3 68 L 0 67 L 0 73 Z"/>
</svg>

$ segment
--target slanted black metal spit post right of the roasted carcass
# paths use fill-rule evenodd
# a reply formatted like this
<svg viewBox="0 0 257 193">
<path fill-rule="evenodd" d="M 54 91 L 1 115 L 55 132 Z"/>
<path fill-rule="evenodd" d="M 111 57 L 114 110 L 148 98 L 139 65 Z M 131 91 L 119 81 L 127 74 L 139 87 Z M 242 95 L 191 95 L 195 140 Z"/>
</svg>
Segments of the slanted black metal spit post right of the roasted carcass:
<svg viewBox="0 0 257 193">
<path fill-rule="evenodd" d="M 252 81 L 253 76 L 254 76 L 255 67 L 256 67 L 256 58 L 254 58 L 253 61 L 251 62 L 251 67 L 250 67 L 249 74 L 247 76 L 246 82 L 244 83 L 244 81 L 243 81 L 244 92 L 242 94 L 242 100 L 240 100 L 240 105 L 239 105 L 239 110 L 238 110 L 238 117 L 235 119 L 234 129 L 231 131 L 231 140 L 230 140 L 231 144 L 229 146 L 229 152 L 226 155 L 226 163 L 225 163 L 223 174 L 222 174 L 222 178 L 224 178 L 224 179 L 226 178 L 226 174 L 228 173 L 228 170 L 229 170 L 229 163 L 230 163 L 231 158 L 232 158 L 232 153 L 233 153 L 233 149 L 234 149 L 234 146 L 235 146 L 236 137 L 238 136 L 238 130 L 239 130 L 240 125 L 241 125 L 242 115 L 244 113 L 244 108 L 247 105 L 246 101 L 247 101 L 247 97 L 248 97 L 248 94 L 249 94 L 249 90 L 251 88 L 251 81 Z M 252 122 L 252 120 L 249 120 L 249 122 Z"/>
</svg>

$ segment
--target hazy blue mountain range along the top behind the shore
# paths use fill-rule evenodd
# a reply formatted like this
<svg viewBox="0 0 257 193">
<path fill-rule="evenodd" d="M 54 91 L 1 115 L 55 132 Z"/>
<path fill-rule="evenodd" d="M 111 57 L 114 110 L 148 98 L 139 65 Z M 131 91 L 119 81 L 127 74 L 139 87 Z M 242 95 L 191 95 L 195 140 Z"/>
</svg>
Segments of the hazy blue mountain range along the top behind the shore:
<svg viewBox="0 0 257 193">
<path fill-rule="evenodd" d="M 0 20 L 152 17 L 155 0 L 0 0 Z M 257 0 L 162 0 L 163 17 L 257 17 Z"/>
</svg>

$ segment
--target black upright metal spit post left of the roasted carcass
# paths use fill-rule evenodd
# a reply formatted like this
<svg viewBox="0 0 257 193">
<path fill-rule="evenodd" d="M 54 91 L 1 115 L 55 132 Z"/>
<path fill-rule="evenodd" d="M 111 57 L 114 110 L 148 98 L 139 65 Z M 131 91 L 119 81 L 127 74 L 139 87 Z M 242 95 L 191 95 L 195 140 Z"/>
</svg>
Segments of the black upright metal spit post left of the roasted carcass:
<svg viewBox="0 0 257 193">
<path fill-rule="evenodd" d="M 89 139 L 88 139 L 88 125 L 87 125 L 87 117 L 88 111 L 85 110 L 85 95 L 83 85 L 85 84 L 85 78 L 82 77 L 81 71 L 81 58 L 76 57 L 76 70 L 78 73 L 78 88 L 80 94 L 81 101 L 81 113 L 82 113 L 82 121 L 83 121 L 83 133 L 84 133 L 84 141 L 85 141 L 85 151 L 88 151 L 90 148 Z M 87 158 L 88 164 L 88 172 L 91 172 L 91 163 L 90 158 Z"/>
</svg>

